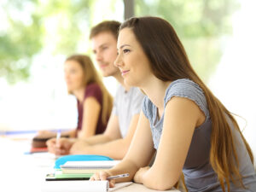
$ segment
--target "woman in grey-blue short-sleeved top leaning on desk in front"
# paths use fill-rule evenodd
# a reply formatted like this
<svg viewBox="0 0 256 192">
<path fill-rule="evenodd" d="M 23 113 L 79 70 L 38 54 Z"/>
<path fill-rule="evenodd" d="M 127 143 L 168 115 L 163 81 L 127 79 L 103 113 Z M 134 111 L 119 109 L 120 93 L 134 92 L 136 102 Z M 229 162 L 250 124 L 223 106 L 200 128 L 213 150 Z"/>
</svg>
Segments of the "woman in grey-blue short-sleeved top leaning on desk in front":
<svg viewBox="0 0 256 192">
<path fill-rule="evenodd" d="M 256 191 L 253 154 L 236 119 L 195 73 L 166 20 L 126 20 L 118 54 L 115 65 L 125 84 L 146 97 L 124 160 L 90 180 L 128 172 L 130 177 L 117 181 L 166 190 L 184 178 L 189 191 Z"/>
</svg>

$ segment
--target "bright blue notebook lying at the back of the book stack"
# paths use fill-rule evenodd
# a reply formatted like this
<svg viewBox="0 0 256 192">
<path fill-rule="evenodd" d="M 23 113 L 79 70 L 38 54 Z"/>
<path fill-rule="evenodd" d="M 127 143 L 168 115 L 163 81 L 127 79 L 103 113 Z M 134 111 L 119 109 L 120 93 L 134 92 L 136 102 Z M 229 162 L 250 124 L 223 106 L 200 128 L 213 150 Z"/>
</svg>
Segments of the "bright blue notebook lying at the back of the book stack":
<svg viewBox="0 0 256 192">
<path fill-rule="evenodd" d="M 55 169 L 61 169 L 67 161 L 87 161 L 87 160 L 113 160 L 110 157 L 97 154 L 70 154 L 61 156 L 55 160 Z"/>
</svg>

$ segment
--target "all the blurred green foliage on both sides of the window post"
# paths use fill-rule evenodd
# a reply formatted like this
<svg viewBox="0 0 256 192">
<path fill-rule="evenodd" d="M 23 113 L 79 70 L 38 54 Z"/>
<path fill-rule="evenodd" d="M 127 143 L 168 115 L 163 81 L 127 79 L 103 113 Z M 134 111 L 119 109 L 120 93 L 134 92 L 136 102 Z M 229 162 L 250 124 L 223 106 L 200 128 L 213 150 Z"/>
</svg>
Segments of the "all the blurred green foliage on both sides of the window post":
<svg viewBox="0 0 256 192">
<path fill-rule="evenodd" d="M 122 0 L 3 0 L 0 6 L 0 79 L 9 84 L 30 78 L 37 55 L 90 54 L 90 27 L 101 20 L 124 20 Z M 238 8 L 236 0 L 134 1 L 136 16 L 160 16 L 174 26 L 205 81 L 232 35 L 230 18 Z"/>
</svg>

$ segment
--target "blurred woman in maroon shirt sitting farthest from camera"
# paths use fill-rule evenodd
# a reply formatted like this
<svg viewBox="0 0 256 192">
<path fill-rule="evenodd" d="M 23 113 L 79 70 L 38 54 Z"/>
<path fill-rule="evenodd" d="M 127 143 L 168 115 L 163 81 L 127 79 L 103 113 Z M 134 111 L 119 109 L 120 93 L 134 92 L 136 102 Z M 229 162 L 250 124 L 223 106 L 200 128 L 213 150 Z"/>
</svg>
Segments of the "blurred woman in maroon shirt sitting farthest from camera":
<svg viewBox="0 0 256 192">
<path fill-rule="evenodd" d="M 102 83 L 92 61 L 86 55 L 72 55 L 64 63 L 68 93 L 78 101 L 78 127 L 63 132 L 66 137 L 86 138 L 105 131 L 113 106 L 113 98 Z M 43 131 L 38 137 L 54 137 L 55 133 Z"/>
</svg>

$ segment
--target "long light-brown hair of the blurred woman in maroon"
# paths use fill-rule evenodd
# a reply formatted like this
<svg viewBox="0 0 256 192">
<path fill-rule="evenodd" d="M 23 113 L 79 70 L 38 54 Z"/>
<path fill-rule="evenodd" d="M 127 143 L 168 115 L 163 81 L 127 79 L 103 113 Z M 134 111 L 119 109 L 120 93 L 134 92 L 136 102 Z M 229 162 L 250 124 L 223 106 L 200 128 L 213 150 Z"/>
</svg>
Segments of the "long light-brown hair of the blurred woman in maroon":
<svg viewBox="0 0 256 192">
<path fill-rule="evenodd" d="M 113 107 L 113 97 L 109 94 L 108 90 L 102 83 L 102 78 L 96 72 L 96 68 L 90 60 L 90 57 L 86 55 L 71 55 L 67 58 L 66 61 L 77 61 L 79 65 L 83 68 L 84 86 L 91 83 L 96 83 L 100 86 L 102 90 L 102 123 L 103 125 L 107 125 L 108 118 L 110 117 L 110 113 Z"/>
</svg>

